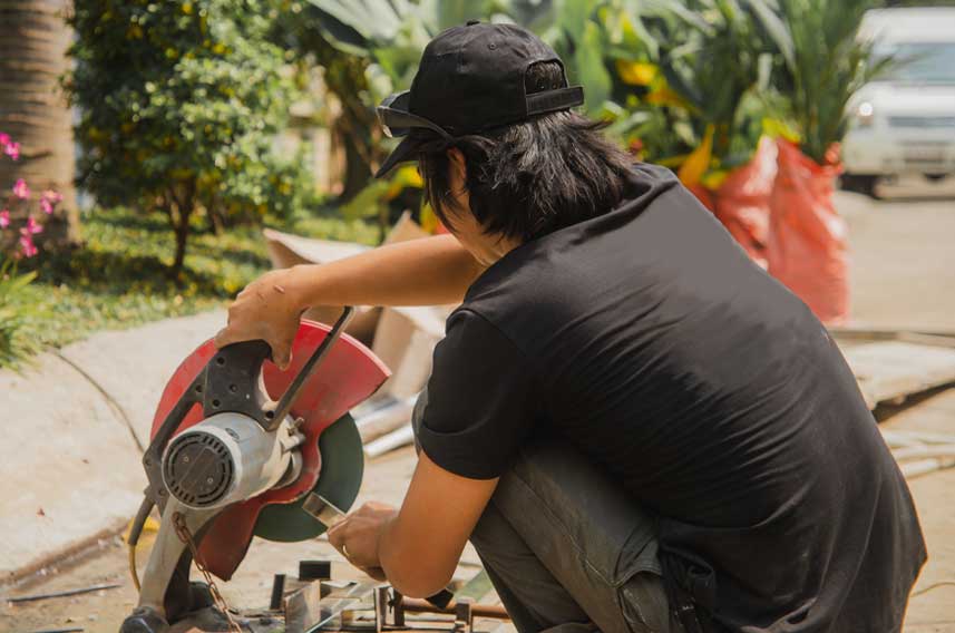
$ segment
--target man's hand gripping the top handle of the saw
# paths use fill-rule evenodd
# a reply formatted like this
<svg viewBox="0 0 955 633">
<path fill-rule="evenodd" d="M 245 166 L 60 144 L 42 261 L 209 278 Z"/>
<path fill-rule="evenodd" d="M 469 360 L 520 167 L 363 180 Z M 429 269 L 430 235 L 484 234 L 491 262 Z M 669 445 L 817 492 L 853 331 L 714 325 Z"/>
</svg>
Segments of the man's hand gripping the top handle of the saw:
<svg viewBox="0 0 955 633">
<path fill-rule="evenodd" d="M 279 369 L 292 362 L 292 343 L 304 306 L 291 288 L 291 269 L 265 273 L 238 293 L 228 309 L 228 324 L 215 337 L 215 347 L 263 340 L 272 348 Z"/>
</svg>

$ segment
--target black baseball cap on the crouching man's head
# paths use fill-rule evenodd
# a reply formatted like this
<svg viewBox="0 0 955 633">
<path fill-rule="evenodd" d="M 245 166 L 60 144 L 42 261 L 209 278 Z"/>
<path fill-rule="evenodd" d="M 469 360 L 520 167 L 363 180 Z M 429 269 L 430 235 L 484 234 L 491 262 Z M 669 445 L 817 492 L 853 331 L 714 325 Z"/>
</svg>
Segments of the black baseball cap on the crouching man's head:
<svg viewBox="0 0 955 633">
<path fill-rule="evenodd" d="M 554 49 L 516 25 L 471 20 L 441 32 L 425 47 L 411 89 L 378 107 L 384 134 L 406 138 L 374 176 L 413 160 L 426 130 L 451 140 L 583 104 L 584 88 L 568 86 L 566 72 L 559 86 L 527 94 L 527 69 L 542 61 L 564 68 Z"/>
</svg>

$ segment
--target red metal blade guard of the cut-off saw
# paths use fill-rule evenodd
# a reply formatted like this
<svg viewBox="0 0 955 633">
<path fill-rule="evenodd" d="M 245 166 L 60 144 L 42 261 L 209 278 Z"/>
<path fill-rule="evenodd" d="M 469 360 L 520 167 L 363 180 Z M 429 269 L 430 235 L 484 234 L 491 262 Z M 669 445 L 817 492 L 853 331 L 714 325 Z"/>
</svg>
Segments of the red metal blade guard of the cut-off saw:
<svg viewBox="0 0 955 633">
<path fill-rule="evenodd" d="M 303 320 L 292 345 L 292 363 L 289 369 L 281 371 L 272 362 L 263 363 L 265 389 L 273 399 L 282 396 L 330 330 L 328 325 Z M 215 352 L 212 340 L 208 340 L 179 364 L 159 399 L 156 415 L 153 417 L 150 437 L 156 435 L 163 420 Z M 301 427 L 305 435 L 301 476 L 284 488 L 267 490 L 257 497 L 234 504 L 213 519 L 198 548 L 199 556 L 209 572 L 222 580 L 230 580 L 245 557 L 262 509 L 271 504 L 293 503 L 314 488 L 322 467 L 319 436 L 352 407 L 374 393 L 389 374 L 388 368 L 371 350 L 348 334 L 341 335 L 292 407 L 292 416 L 305 420 Z M 183 418 L 176 434 L 202 420 L 202 406 L 197 403 Z"/>
</svg>

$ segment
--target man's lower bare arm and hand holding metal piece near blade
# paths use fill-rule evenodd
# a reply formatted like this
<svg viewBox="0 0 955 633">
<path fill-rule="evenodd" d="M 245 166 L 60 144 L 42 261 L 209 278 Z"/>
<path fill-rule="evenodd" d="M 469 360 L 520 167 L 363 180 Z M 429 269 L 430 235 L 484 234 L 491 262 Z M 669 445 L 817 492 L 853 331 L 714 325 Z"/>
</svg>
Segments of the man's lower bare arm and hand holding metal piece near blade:
<svg viewBox="0 0 955 633">
<path fill-rule="evenodd" d="M 329 542 L 403 595 L 427 597 L 451 581 L 496 486 L 449 473 L 422 451 L 399 512 L 367 504 L 332 528 Z"/>
</svg>

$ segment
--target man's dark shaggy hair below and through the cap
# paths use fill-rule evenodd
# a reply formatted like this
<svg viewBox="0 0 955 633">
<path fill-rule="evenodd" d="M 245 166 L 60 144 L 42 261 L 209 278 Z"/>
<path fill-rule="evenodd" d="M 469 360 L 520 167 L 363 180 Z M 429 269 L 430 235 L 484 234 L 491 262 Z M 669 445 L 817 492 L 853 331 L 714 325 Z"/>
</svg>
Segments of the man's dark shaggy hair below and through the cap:
<svg viewBox="0 0 955 633">
<path fill-rule="evenodd" d="M 532 66 L 528 94 L 564 85 L 557 62 Z M 607 140 L 604 123 L 569 110 L 455 138 L 422 137 L 418 164 L 425 192 L 441 221 L 454 230 L 448 184 L 457 148 L 467 164 L 467 189 L 475 218 L 489 234 L 523 242 L 602 215 L 623 195 L 633 158 Z"/>
</svg>

